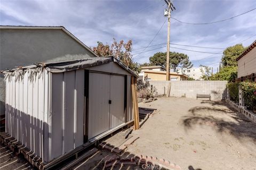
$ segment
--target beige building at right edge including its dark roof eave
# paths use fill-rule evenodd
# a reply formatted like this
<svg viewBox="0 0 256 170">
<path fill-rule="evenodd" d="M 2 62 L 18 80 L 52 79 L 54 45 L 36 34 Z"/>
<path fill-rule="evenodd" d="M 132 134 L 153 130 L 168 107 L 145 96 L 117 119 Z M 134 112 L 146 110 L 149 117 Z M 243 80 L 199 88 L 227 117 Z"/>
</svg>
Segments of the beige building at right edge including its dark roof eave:
<svg viewBox="0 0 256 170">
<path fill-rule="evenodd" d="M 256 40 L 240 54 L 236 61 L 238 64 L 237 78 L 254 77 L 256 74 Z M 254 73 L 254 75 L 253 75 Z M 247 79 L 247 78 L 242 78 Z M 256 79 L 255 79 L 256 80 Z M 254 81 L 255 81 L 254 80 Z"/>
</svg>

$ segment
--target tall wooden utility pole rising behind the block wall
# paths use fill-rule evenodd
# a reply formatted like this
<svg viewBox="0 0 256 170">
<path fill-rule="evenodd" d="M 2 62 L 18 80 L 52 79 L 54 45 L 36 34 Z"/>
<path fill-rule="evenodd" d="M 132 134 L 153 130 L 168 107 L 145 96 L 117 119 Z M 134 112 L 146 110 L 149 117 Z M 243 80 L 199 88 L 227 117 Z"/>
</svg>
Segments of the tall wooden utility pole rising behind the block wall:
<svg viewBox="0 0 256 170">
<path fill-rule="evenodd" d="M 173 0 L 164 0 L 167 4 L 167 9 L 165 9 L 165 16 L 168 16 L 168 26 L 167 26 L 167 52 L 166 52 L 166 80 L 170 80 L 170 24 L 171 24 L 171 11 L 175 10 L 175 7 L 172 4 Z M 167 14 L 166 14 L 167 13 Z"/>
</svg>

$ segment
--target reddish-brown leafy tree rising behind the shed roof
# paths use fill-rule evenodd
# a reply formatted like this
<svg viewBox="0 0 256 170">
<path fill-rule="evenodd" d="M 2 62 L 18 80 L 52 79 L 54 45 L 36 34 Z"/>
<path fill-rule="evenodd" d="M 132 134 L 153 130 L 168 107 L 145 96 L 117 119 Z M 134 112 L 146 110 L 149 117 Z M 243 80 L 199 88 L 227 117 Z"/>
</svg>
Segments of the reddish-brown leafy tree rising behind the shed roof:
<svg viewBox="0 0 256 170">
<path fill-rule="evenodd" d="M 132 60 L 132 40 L 127 41 L 124 43 L 124 40 L 116 41 L 113 38 L 113 43 L 111 46 L 108 44 L 104 45 L 100 41 L 97 42 L 98 46 L 93 47 L 93 51 L 99 55 L 100 57 L 103 56 L 114 56 L 126 66 L 128 66 L 131 70 L 135 71 L 137 74 L 140 72 L 140 66 L 138 63 L 133 62 Z"/>
</svg>

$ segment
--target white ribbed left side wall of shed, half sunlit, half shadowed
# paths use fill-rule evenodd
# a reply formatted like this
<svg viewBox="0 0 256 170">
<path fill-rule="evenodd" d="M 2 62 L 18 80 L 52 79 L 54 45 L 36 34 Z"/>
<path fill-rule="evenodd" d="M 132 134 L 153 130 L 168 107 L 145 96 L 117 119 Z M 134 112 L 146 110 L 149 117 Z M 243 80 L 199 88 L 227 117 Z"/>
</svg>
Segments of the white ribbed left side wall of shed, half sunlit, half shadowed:
<svg viewBox="0 0 256 170">
<path fill-rule="evenodd" d="M 6 80 L 6 132 L 43 157 L 45 71 Z"/>
</svg>

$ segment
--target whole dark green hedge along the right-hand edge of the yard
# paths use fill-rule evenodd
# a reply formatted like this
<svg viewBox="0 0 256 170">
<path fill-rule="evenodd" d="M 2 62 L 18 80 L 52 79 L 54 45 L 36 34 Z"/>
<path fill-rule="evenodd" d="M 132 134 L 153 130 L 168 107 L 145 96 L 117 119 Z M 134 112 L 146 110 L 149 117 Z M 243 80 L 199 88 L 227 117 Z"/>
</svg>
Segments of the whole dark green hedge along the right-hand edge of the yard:
<svg viewBox="0 0 256 170">
<path fill-rule="evenodd" d="M 247 109 L 256 113 L 256 83 L 255 82 L 231 82 L 228 83 L 230 100 L 239 102 L 239 86 L 243 92 L 244 105 Z"/>
</svg>

